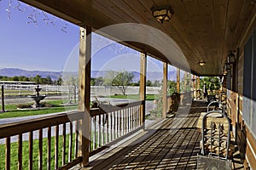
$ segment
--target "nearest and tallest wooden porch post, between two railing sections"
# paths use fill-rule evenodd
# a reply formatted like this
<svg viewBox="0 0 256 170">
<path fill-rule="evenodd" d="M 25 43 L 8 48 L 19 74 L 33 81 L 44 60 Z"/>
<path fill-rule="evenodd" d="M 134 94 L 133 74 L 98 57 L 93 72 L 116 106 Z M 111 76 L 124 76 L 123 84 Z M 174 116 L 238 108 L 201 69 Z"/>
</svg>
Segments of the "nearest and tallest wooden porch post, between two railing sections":
<svg viewBox="0 0 256 170">
<path fill-rule="evenodd" d="M 82 156 L 82 167 L 89 163 L 90 151 L 90 33 L 89 26 L 80 27 L 79 111 L 84 111 L 84 114 L 79 122 L 79 156 Z"/>
</svg>

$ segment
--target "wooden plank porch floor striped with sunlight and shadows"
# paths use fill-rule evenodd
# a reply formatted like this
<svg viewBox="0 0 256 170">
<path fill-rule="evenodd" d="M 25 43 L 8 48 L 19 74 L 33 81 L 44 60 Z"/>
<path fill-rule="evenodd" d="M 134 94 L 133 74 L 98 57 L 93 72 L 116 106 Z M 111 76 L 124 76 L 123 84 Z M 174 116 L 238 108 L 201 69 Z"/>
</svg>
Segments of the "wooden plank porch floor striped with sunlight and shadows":
<svg viewBox="0 0 256 170">
<path fill-rule="evenodd" d="M 194 101 L 191 107 L 167 116 L 82 169 L 196 169 L 201 140 L 196 125 L 201 112 L 206 110 L 205 102 Z"/>
</svg>

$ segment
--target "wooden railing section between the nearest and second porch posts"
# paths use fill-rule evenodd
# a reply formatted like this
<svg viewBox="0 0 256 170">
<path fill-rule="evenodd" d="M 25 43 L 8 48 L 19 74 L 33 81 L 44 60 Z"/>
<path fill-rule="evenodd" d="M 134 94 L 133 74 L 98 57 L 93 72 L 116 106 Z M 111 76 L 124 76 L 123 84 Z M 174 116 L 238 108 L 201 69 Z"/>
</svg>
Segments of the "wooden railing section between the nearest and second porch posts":
<svg viewBox="0 0 256 170">
<path fill-rule="evenodd" d="M 142 101 L 91 109 L 90 155 L 95 150 L 141 127 Z"/>
</svg>

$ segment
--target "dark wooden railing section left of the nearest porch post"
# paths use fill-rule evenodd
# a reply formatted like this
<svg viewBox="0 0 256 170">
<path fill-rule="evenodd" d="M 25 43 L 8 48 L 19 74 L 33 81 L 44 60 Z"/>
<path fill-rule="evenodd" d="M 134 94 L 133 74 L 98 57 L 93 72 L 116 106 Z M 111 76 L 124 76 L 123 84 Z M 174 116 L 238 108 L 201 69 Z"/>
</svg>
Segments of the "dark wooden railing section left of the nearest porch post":
<svg viewBox="0 0 256 170">
<path fill-rule="evenodd" d="M 5 139 L 5 167 L 2 168 L 9 170 L 12 165 L 14 169 L 26 169 L 27 161 L 28 169 L 43 169 L 43 166 L 67 169 L 78 164 L 82 158 L 78 156 L 79 133 L 76 126 L 81 117 L 82 112 L 76 111 L 1 125 L 0 139 Z M 17 162 L 12 162 L 14 155 Z"/>
</svg>

